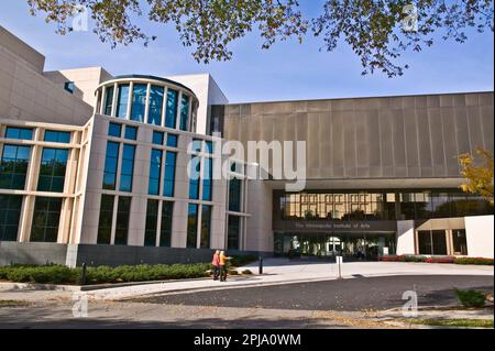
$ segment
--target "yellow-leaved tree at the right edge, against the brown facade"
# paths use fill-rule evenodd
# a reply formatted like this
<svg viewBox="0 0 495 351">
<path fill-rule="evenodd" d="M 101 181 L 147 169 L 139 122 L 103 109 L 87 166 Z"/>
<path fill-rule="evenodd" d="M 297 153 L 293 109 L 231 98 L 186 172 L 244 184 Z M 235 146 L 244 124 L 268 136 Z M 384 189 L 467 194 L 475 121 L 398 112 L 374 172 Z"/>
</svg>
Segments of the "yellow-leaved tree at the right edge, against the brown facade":
<svg viewBox="0 0 495 351">
<path fill-rule="evenodd" d="M 479 194 L 493 204 L 493 155 L 482 147 L 476 149 L 476 155 L 466 153 L 459 156 L 461 175 L 465 179 L 461 188 L 465 193 Z"/>
</svg>

